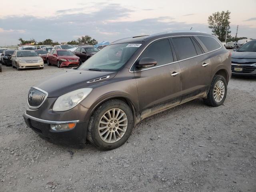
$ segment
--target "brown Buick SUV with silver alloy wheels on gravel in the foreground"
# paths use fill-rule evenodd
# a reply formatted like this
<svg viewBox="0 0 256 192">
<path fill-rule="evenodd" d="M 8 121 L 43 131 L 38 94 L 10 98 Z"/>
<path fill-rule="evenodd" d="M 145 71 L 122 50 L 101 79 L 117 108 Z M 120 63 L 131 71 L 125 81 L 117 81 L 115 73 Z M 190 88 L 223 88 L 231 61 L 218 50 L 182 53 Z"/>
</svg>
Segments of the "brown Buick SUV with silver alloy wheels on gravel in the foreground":
<svg viewBox="0 0 256 192">
<path fill-rule="evenodd" d="M 33 86 L 24 119 L 47 140 L 110 150 L 148 116 L 195 98 L 222 105 L 230 77 L 230 53 L 210 34 L 125 38 Z"/>
</svg>

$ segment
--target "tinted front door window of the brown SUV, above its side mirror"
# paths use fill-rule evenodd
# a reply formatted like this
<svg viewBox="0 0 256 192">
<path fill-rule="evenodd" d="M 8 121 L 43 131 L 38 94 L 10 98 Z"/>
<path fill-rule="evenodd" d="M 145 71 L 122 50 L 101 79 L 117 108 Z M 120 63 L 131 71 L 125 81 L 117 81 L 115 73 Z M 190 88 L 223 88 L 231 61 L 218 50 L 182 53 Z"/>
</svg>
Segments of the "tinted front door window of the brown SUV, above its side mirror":
<svg viewBox="0 0 256 192">
<path fill-rule="evenodd" d="M 172 50 L 168 39 L 154 42 L 140 55 L 140 58 L 150 57 L 156 60 L 157 66 L 173 62 Z"/>
</svg>

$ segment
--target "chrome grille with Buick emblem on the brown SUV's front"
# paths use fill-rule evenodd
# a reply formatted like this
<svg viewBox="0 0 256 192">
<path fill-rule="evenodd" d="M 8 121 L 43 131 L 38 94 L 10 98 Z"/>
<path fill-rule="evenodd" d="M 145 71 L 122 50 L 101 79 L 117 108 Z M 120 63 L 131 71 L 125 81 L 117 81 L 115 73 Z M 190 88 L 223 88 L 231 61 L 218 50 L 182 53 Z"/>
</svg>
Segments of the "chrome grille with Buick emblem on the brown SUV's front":
<svg viewBox="0 0 256 192">
<path fill-rule="evenodd" d="M 39 108 L 47 98 L 47 93 L 36 89 L 30 88 L 28 92 L 28 105 L 30 108 Z"/>
</svg>

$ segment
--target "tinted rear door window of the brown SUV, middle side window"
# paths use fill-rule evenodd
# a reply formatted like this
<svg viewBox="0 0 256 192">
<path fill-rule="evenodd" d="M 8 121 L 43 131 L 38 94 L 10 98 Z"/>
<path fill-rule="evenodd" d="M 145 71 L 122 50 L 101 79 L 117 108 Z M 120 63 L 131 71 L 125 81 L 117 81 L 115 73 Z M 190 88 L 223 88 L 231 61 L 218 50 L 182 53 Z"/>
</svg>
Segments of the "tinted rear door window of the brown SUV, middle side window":
<svg viewBox="0 0 256 192">
<path fill-rule="evenodd" d="M 197 55 L 195 46 L 190 37 L 173 38 L 172 41 L 180 60 Z"/>
</svg>

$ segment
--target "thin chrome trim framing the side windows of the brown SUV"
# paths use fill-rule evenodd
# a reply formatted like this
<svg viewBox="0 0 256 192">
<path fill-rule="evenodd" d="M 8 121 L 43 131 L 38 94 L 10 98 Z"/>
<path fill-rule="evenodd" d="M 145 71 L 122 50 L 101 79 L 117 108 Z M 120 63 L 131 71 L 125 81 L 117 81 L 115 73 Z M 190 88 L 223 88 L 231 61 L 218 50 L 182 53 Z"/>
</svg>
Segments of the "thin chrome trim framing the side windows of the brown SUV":
<svg viewBox="0 0 256 192">
<path fill-rule="evenodd" d="M 183 36 L 204 36 L 204 37 L 210 37 L 210 38 L 214 38 L 214 37 L 211 37 L 211 36 L 206 36 L 206 35 L 177 35 L 177 36 L 169 36 L 169 37 L 162 37 L 162 38 L 158 38 L 156 40 L 153 40 L 152 42 L 155 42 L 157 40 L 160 40 L 160 39 L 165 39 L 165 38 L 172 38 L 172 37 L 183 37 Z M 216 40 L 214 38 L 214 40 Z M 144 52 L 144 50 L 150 45 L 152 44 L 152 42 L 150 42 L 143 50 L 142 52 L 139 54 L 139 56 L 136 58 L 136 60 L 133 62 L 132 66 L 134 66 L 134 63 L 138 60 L 138 58 L 140 57 L 140 55 Z M 218 42 L 216 40 L 216 42 Z M 190 57 L 190 58 L 186 58 L 186 59 L 182 59 L 182 60 L 178 60 L 178 61 L 174 61 L 174 62 L 171 62 L 171 63 L 167 63 L 167 64 L 163 64 L 163 65 L 159 65 L 159 66 L 154 66 L 154 67 L 150 67 L 150 68 L 146 68 L 146 69 L 142 69 L 142 70 L 131 70 L 132 66 L 129 68 L 129 72 L 130 73 L 136 73 L 136 72 L 141 72 L 141 71 L 145 71 L 145 70 L 150 70 L 150 69 L 154 69 L 154 68 L 158 68 L 158 67 L 162 67 L 162 66 L 166 66 L 166 65 L 170 65 L 170 64 L 174 64 L 174 63 L 177 63 L 177 62 L 182 62 L 182 61 L 185 61 L 185 60 L 188 60 L 188 59 L 192 59 L 192 58 L 195 58 L 195 57 L 198 57 L 198 56 L 201 56 L 201 55 L 204 55 L 204 54 L 208 54 L 208 53 L 211 53 L 211 52 L 214 52 L 216 50 L 219 50 L 222 48 L 222 45 L 218 42 L 218 44 L 220 45 L 220 48 L 218 49 L 215 49 L 215 50 L 212 50 L 212 51 L 208 51 L 206 53 L 203 53 L 203 54 L 200 54 L 200 55 L 196 55 L 196 56 L 193 56 L 193 57 Z"/>
</svg>

